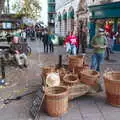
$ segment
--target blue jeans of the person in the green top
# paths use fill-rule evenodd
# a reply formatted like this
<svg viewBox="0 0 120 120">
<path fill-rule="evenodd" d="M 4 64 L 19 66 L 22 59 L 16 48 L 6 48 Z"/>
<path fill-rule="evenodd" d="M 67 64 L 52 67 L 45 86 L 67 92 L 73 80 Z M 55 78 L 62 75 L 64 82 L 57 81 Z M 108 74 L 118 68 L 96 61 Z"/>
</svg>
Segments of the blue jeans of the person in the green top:
<svg viewBox="0 0 120 120">
<path fill-rule="evenodd" d="M 94 53 L 92 55 L 92 61 L 91 61 L 91 69 L 94 69 L 96 71 L 100 71 L 100 65 L 104 61 L 104 53 Z"/>
</svg>

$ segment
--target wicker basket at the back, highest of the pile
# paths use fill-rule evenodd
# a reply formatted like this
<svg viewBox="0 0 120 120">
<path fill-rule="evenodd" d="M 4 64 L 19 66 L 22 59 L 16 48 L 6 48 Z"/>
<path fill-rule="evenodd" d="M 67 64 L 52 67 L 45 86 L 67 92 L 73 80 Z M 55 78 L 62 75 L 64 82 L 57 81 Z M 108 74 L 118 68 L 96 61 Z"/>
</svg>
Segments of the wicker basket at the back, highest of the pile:
<svg viewBox="0 0 120 120">
<path fill-rule="evenodd" d="M 84 56 L 69 56 L 68 68 L 73 70 L 76 67 L 83 67 Z"/>
</svg>

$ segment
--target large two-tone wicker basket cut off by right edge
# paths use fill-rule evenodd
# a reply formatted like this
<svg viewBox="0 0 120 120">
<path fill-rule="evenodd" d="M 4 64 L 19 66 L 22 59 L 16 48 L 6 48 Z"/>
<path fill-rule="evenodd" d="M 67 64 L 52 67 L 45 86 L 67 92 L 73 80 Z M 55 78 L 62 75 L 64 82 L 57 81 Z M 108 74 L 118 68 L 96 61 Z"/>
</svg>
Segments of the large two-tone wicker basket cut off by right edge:
<svg viewBox="0 0 120 120">
<path fill-rule="evenodd" d="M 120 72 L 104 74 L 107 101 L 113 106 L 120 106 Z"/>
</svg>

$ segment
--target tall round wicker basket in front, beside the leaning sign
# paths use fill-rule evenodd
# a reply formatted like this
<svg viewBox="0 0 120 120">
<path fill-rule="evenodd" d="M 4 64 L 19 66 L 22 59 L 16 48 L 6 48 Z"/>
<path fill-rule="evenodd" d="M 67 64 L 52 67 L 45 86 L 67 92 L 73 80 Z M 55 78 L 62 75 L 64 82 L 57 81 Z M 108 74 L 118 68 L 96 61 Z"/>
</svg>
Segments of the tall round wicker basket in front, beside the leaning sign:
<svg viewBox="0 0 120 120">
<path fill-rule="evenodd" d="M 50 116 L 58 117 L 68 111 L 68 89 L 63 86 L 45 90 L 46 111 Z"/>
</svg>

